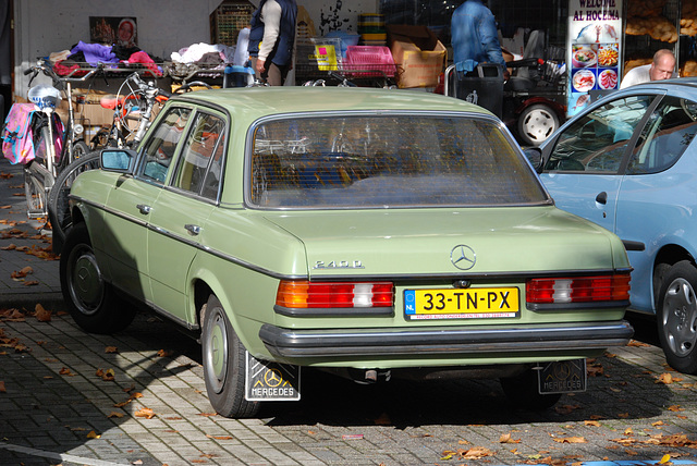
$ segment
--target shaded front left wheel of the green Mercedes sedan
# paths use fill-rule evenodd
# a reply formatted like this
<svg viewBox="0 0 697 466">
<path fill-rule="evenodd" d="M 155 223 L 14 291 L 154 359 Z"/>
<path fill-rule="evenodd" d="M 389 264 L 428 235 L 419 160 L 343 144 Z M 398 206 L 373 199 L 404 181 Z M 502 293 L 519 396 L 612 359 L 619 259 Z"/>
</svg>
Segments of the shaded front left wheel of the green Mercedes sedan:
<svg viewBox="0 0 697 466">
<path fill-rule="evenodd" d="M 110 334 L 125 329 L 135 318 L 136 308 L 103 281 L 85 223 L 73 225 L 65 237 L 60 278 L 68 310 L 83 330 Z"/>
</svg>

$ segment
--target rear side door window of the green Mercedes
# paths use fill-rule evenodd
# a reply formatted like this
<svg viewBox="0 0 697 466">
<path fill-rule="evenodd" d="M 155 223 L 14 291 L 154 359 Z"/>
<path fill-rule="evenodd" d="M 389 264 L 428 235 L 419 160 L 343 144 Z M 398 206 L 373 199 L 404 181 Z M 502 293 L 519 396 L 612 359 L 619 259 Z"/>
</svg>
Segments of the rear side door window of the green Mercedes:
<svg viewBox="0 0 697 466">
<path fill-rule="evenodd" d="M 223 139 L 223 121 L 211 114 L 199 113 L 186 138 L 173 185 L 180 189 L 216 198 L 220 184 L 220 163 L 211 168 L 212 173 L 209 176 L 206 174 L 215 160 L 213 155 L 219 148 L 222 150 Z M 207 185 L 204 184 L 204 180 L 207 180 Z M 205 192 L 201 193 L 204 187 Z"/>
</svg>

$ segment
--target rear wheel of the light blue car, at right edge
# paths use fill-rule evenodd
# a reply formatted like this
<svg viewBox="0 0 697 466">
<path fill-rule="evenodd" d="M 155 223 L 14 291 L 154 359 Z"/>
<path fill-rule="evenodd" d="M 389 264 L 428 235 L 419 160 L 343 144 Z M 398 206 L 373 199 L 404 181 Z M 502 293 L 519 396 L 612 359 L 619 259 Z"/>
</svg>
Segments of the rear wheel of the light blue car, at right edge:
<svg viewBox="0 0 697 466">
<path fill-rule="evenodd" d="M 668 364 L 697 373 L 697 268 L 683 260 L 665 272 L 656 307 L 658 336 Z"/>
</svg>

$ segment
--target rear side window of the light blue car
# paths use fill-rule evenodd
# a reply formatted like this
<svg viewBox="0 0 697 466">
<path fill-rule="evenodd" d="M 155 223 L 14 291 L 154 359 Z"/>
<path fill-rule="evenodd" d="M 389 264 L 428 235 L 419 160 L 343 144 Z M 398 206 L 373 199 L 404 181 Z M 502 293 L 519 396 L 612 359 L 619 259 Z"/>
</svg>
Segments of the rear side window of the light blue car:
<svg viewBox="0 0 697 466">
<path fill-rule="evenodd" d="M 697 133 L 697 103 L 665 97 L 651 114 L 632 152 L 627 174 L 658 173 L 683 155 Z"/>
</svg>

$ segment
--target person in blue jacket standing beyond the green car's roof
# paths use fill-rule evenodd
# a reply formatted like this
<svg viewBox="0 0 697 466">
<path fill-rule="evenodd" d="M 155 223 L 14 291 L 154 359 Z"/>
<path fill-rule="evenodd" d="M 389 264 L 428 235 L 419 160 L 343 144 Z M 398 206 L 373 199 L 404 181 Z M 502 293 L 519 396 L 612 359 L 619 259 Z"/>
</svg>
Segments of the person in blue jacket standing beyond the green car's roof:
<svg viewBox="0 0 697 466">
<path fill-rule="evenodd" d="M 465 0 L 451 19 L 453 62 L 472 71 L 478 63 L 497 63 L 508 78 L 493 13 L 481 0 Z"/>
</svg>

